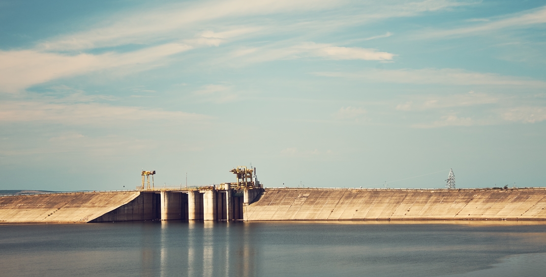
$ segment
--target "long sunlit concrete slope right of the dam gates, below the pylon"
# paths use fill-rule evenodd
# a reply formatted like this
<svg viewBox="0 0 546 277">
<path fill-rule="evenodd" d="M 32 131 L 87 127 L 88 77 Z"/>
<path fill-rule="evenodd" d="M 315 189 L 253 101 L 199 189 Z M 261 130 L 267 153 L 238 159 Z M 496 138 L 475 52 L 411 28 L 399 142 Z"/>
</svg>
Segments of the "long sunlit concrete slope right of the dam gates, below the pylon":
<svg viewBox="0 0 546 277">
<path fill-rule="evenodd" d="M 266 189 L 245 220 L 546 220 L 546 189 Z"/>
</svg>

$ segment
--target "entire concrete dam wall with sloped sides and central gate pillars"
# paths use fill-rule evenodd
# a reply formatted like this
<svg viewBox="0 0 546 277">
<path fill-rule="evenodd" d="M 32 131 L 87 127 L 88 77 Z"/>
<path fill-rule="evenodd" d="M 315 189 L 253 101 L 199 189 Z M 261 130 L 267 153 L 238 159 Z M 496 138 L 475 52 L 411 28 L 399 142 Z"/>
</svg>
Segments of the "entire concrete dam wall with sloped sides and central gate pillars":
<svg viewBox="0 0 546 277">
<path fill-rule="evenodd" d="M 144 220 L 546 220 L 546 188 L 200 189 L 0 197 L 0 223 Z"/>
</svg>

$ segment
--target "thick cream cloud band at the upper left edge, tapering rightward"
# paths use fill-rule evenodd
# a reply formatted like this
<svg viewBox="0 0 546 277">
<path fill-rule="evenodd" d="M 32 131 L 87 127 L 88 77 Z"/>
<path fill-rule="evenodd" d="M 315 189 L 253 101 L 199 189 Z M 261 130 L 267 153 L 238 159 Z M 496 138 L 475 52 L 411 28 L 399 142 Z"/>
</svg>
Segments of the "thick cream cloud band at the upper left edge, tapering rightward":
<svg viewBox="0 0 546 277">
<path fill-rule="evenodd" d="M 183 44 L 164 44 L 128 53 L 74 56 L 34 50 L 0 51 L 0 92 L 14 93 L 37 83 L 97 70 L 142 66 L 190 49 Z"/>
</svg>

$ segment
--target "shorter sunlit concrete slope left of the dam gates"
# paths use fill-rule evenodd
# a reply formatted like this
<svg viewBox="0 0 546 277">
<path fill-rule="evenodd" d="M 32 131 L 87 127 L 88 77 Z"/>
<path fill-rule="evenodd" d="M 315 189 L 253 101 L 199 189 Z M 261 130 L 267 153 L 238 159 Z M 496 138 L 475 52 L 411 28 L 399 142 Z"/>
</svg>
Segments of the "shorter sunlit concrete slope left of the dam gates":
<svg viewBox="0 0 546 277">
<path fill-rule="evenodd" d="M 0 197 L 0 223 L 88 222 L 138 197 L 138 191 Z"/>
</svg>

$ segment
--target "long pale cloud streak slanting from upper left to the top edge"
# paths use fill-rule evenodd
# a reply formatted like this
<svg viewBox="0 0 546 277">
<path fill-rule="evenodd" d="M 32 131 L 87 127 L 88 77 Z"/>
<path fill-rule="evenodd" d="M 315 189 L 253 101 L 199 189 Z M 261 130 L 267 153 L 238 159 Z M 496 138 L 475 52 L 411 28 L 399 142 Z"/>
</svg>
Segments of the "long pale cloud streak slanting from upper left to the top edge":
<svg viewBox="0 0 546 277">
<path fill-rule="evenodd" d="M 333 0 L 263 0 L 206 1 L 197 4 L 164 5 L 108 21 L 89 31 L 62 35 L 40 45 L 42 49 L 70 51 L 126 44 L 147 44 L 150 40 L 172 37 L 182 29 L 198 28 L 197 24 L 228 17 L 257 16 L 301 10 L 327 9 L 341 5 Z M 106 24 L 105 24 L 106 25 Z M 225 39 L 225 37 L 224 37 Z"/>
</svg>

